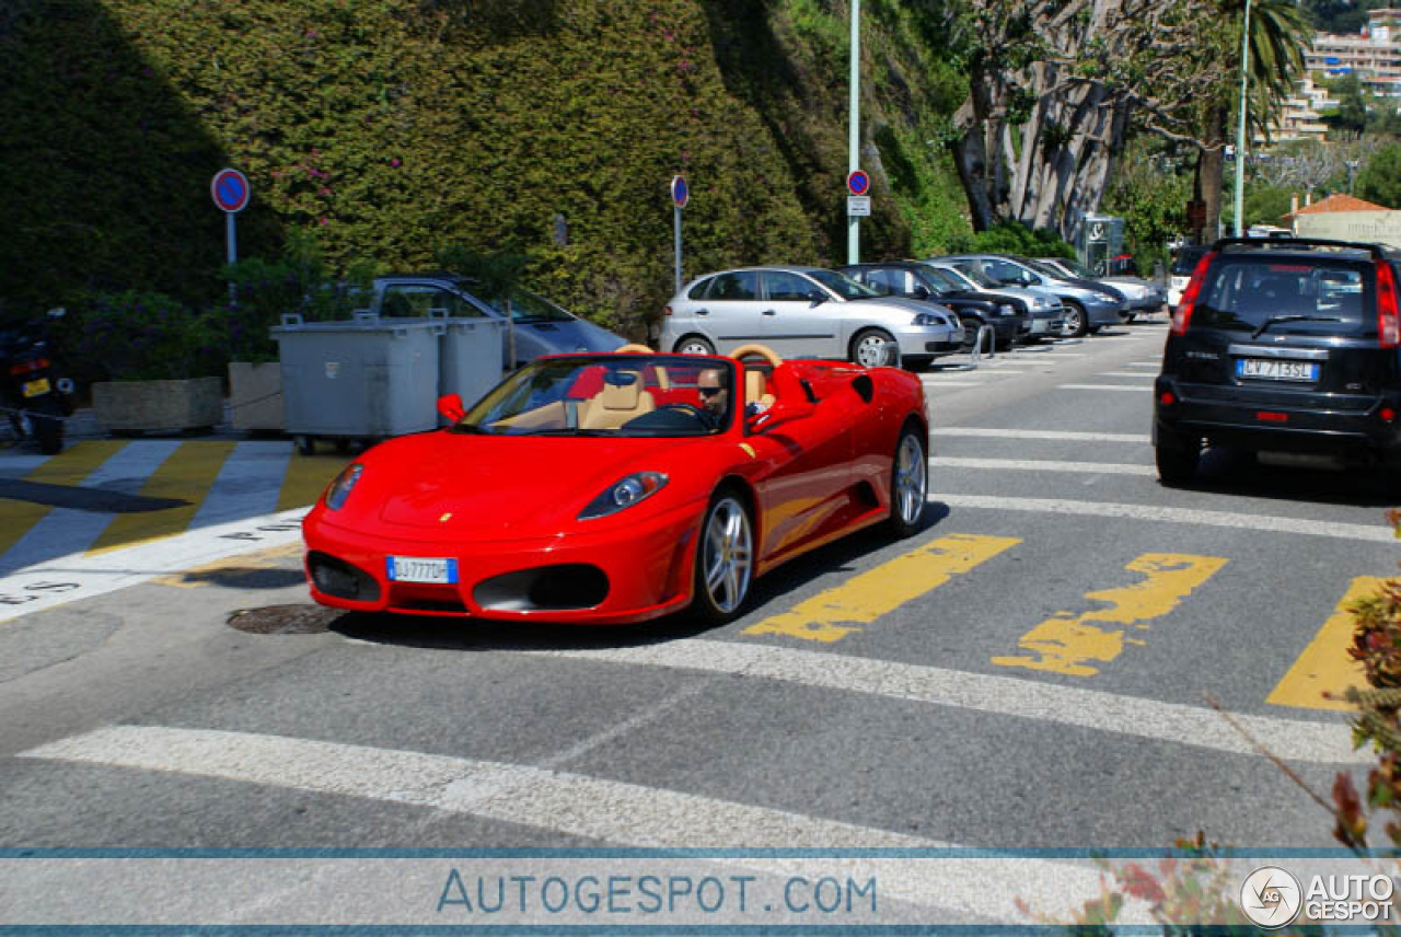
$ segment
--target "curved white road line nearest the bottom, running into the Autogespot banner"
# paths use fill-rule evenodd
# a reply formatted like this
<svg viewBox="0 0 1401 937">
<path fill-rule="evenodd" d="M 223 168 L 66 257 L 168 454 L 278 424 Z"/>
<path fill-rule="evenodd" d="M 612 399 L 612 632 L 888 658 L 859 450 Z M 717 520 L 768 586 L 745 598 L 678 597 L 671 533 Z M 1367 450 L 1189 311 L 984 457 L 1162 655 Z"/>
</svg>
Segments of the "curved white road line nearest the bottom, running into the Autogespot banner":
<svg viewBox="0 0 1401 937">
<path fill-rule="evenodd" d="M 772 807 L 532 765 L 284 735 L 116 726 L 29 749 L 20 758 L 406 804 L 633 849 L 964 849 Z M 766 875 L 814 874 L 803 866 L 803 859 L 736 856 L 713 861 Z M 1069 919 L 1080 903 L 1103 892 L 1104 875 L 1086 860 L 968 857 L 929 863 L 898 852 L 890 857 L 842 857 L 842 874 L 857 881 L 878 877 L 880 896 L 885 901 L 951 909 L 960 912 L 961 920 L 1005 923 L 1027 919 L 1020 902 L 1038 913 Z M 240 910 L 234 920 L 247 927 L 252 919 L 247 908 Z M 1121 920 L 1147 924 L 1152 916 L 1146 905 L 1129 901 Z"/>
</svg>

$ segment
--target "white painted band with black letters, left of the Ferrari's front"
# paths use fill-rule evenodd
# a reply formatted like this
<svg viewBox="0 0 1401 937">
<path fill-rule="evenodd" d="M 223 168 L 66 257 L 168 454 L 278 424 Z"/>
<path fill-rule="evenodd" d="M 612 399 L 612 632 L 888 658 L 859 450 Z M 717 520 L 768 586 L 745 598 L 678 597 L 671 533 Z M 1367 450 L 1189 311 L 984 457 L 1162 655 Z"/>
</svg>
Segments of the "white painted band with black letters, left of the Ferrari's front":
<svg viewBox="0 0 1401 937">
<path fill-rule="evenodd" d="M 282 511 L 28 566 L 0 578 L 0 622 L 115 592 L 192 566 L 293 543 L 301 538 L 304 514 L 305 508 Z"/>
</svg>

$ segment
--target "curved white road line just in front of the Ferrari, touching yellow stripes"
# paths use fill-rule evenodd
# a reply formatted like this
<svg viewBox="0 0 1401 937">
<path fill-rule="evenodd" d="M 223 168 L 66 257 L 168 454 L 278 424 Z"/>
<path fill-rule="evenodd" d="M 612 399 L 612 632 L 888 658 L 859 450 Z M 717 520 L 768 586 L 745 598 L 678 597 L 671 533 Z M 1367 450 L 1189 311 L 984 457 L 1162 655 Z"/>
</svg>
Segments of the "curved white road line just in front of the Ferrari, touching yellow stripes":
<svg viewBox="0 0 1401 937">
<path fill-rule="evenodd" d="M 681 639 L 639 647 L 514 653 L 758 676 L 849 693 L 1013 716 L 1028 723 L 1077 726 L 1233 755 L 1259 754 L 1220 713 L 1205 706 L 1164 703 L 1017 676 L 848 657 L 832 651 L 799 650 L 754 641 Z M 1231 719 L 1286 761 L 1324 765 L 1366 765 L 1374 761 L 1367 752 L 1353 751 L 1352 733 L 1346 723 L 1245 713 L 1231 714 Z M 1028 731 L 1034 730 L 1028 727 Z"/>
</svg>

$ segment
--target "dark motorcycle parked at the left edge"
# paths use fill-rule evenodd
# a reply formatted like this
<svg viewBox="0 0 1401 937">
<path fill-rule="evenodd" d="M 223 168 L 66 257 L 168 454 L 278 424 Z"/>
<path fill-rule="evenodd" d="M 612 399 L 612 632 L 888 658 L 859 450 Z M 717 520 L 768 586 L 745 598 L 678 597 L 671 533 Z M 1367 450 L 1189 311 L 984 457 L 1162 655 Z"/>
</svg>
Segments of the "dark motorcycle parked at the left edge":
<svg viewBox="0 0 1401 937">
<path fill-rule="evenodd" d="M 63 448 L 63 420 L 73 413 L 73 381 L 56 377 L 50 359 L 49 321 L 64 312 L 0 329 L 0 409 L 15 436 L 34 438 L 45 455 Z"/>
</svg>

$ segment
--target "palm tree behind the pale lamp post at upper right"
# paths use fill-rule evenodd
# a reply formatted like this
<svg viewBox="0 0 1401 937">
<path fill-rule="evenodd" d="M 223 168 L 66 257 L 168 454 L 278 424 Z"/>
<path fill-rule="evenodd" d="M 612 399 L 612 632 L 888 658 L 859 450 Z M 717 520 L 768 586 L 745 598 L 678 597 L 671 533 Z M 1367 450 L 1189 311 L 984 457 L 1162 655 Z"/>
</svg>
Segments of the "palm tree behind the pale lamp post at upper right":
<svg viewBox="0 0 1401 937">
<path fill-rule="evenodd" d="M 1203 102 L 1202 150 L 1196 157 L 1194 197 L 1205 203 L 1203 227 L 1196 241 L 1212 241 L 1220 228 L 1222 176 L 1231 115 L 1240 106 L 1240 34 L 1244 28 L 1245 0 L 1217 0 L 1217 27 L 1210 52 L 1222 69 L 1219 92 Z M 1250 0 L 1250 71 L 1248 133 L 1269 136 L 1269 125 L 1293 92 L 1303 74 L 1304 43 L 1313 36 L 1303 11 L 1293 0 Z M 1236 158 L 1244 158 L 1243 153 Z"/>
</svg>

